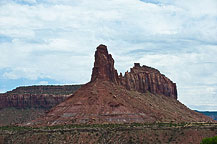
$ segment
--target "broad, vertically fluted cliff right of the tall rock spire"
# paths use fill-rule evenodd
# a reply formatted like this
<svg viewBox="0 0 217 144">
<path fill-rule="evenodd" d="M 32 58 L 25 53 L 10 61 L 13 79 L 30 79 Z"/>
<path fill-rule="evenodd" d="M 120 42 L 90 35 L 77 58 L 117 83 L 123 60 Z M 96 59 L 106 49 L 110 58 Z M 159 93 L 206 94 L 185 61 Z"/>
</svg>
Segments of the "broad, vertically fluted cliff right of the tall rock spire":
<svg viewBox="0 0 217 144">
<path fill-rule="evenodd" d="M 119 78 L 120 84 L 128 90 L 162 94 L 177 99 L 176 84 L 154 68 L 135 63 L 130 72 L 126 72 L 124 76 L 121 74 Z"/>
</svg>

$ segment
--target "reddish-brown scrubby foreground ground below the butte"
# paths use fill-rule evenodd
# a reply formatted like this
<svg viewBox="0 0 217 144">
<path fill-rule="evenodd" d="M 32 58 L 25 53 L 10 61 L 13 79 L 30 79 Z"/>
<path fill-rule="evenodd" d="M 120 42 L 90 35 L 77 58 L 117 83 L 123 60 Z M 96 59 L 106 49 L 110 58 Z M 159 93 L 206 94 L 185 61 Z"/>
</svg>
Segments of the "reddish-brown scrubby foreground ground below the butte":
<svg viewBox="0 0 217 144">
<path fill-rule="evenodd" d="M 186 143 L 200 143 L 201 136 L 205 138 L 216 133 L 217 124 L 211 123 L 11 125 L 0 127 L 0 143 L 181 143 L 186 140 Z M 215 143 L 207 139 L 202 144 Z"/>
</svg>

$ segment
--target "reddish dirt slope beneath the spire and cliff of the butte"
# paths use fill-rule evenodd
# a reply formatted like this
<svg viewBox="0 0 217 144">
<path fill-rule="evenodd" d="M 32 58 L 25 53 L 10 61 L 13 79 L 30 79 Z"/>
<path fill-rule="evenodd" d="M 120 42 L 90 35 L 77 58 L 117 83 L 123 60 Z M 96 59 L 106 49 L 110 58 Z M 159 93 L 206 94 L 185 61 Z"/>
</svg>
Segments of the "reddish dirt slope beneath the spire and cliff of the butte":
<svg viewBox="0 0 217 144">
<path fill-rule="evenodd" d="M 52 108 L 45 117 L 29 124 L 131 122 L 212 122 L 179 101 L 126 90 L 109 81 L 95 81 L 80 88 L 68 100 Z"/>
</svg>

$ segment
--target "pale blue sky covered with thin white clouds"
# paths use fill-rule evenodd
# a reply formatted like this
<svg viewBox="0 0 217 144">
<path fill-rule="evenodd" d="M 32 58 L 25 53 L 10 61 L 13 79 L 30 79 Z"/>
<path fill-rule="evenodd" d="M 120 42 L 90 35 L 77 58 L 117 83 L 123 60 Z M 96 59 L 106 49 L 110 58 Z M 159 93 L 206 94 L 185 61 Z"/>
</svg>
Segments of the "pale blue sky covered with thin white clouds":
<svg viewBox="0 0 217 144">
<path fill-rule="evenodd" d="M 84 84 L 99 44 L 118 72 L 157 68 L 180 102 L 217 111 L 216 0 L 0 0 L 0 92 Z"/>
</svg>

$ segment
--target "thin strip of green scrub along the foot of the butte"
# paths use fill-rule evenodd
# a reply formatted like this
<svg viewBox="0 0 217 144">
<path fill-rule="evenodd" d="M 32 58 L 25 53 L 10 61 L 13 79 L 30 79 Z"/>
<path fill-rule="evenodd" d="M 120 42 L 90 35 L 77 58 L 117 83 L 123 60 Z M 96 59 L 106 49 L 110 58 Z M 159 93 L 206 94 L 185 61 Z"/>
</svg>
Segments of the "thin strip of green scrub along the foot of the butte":
<svg viewBox="0 0 217 144">
<path fill-rule="evenodd" d="M 214 123 L 125 123 L 125 124 L 69 124 L 69 125 L 54 125 L 44 127 L 16 126 L 8 125 L 0 127 L 0 130 L 59 130 L 59 129 L 136 129 L 136 128 L 184 128 L 184 127 L 200 127 L 213 126 L 217 129 L 217 124 Z"/>
</svg>

